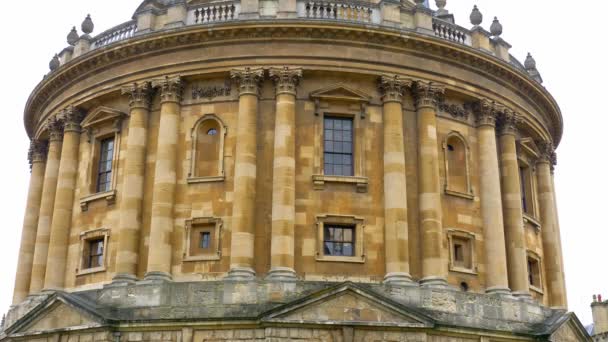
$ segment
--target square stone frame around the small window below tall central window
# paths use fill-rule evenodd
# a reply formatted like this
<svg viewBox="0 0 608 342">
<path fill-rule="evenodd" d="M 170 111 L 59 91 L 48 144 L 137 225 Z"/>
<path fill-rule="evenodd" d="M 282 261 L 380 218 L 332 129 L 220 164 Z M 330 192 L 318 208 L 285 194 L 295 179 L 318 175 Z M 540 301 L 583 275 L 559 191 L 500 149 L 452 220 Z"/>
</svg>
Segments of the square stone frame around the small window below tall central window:
<svg viewBox="0 0 608 342">
<path fill-rule="evenodd" d="M 365 263 L 365 219 L 351 215 L 318 215 L 316 260 L 321 262 Z M 352 226 L 354 229 L 354 246 L 352 256 L 325 254 L 325 226 Z"/>
</svg>

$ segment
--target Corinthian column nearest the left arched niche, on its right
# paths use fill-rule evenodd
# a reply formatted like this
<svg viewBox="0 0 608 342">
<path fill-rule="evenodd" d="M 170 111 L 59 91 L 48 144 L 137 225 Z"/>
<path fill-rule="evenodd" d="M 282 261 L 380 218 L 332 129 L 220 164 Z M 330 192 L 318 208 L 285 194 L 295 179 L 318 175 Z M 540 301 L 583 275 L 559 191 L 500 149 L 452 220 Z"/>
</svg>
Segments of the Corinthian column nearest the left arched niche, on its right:
<svg viewBox="0 0 608 342">
<path fill-rule="evenodd" d="M 255 225 L 255 183 L 257 149 L 257 114 L 260 83 L 264 71 L 238 69 L 230 77 L 239 90 L 239 117 L 234 161 L 234 202 L 232 205 L 232 241 L 228 279 L 255 277 L 253 243 Z"/>
</svg>

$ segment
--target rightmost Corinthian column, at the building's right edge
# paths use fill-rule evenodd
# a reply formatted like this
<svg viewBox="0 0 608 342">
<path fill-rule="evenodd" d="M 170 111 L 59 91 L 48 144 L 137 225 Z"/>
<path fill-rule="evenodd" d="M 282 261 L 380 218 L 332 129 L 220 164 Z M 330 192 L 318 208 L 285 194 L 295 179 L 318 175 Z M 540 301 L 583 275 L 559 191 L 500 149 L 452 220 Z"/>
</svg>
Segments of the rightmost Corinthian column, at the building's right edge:
<svg viewBox="0 0 608 342">
<path fill-rule="evenodd" d="M 554 201 L 551 166 L 555 153 L 551 143 L 539 143 L 541 156 L 536 164 L 538 202 L 540 206 L 541 234 L 543 239 L 543 263 L 549 292 L 549 305 L 566 309 L 566 284 L 564 283 L 561 243 Z"/>
</svg>

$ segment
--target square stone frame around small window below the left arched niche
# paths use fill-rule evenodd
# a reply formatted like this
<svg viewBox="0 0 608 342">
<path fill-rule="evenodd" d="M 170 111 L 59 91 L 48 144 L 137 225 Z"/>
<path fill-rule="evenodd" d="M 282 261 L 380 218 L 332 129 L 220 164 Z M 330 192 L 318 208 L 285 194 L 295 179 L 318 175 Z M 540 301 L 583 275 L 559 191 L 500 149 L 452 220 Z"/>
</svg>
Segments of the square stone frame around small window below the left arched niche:
<svg viewBox="0 0 608 342">
<path fill-rule="evenodd" d="M 191 248 L 192 243 L 192 233 L 193 229 L 197 226 L 211 226 L 209 228 L 210 232 L 210 246 L 209 253 L 203 254 L 194 254 Z M 186 220 L 186 224 L 184 225 L 184 251 L 183 251 L 183 261 L 184 262 L 193 262 L 193 261 L 217 261 L 222 257 L 222 228 L 223 221 L 217 217 L 196 217 L 189 220 Z M 203 233 L 204 231 L 201 231 Z M 201 234 L 202 235 L 202 234 Z M 197 244 L 199 245 L 199 244 Z M 200 249 L 200 248 L 199 248 Z"/>
</svg>

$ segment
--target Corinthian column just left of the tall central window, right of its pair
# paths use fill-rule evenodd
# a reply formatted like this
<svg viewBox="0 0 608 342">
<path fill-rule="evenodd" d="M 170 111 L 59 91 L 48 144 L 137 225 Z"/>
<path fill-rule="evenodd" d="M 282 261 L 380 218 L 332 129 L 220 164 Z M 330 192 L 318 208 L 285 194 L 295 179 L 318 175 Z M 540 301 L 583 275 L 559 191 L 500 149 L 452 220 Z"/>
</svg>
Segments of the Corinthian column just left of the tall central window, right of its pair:
<svg viewBox="0 0 608 342">
<path fill-rule="evenodd" d="M 271 280 L 295 281 L 294 221 L 296 216 L 296 87 L 302 69 L 270 69 L 276 84 L 272 174 Z"/>
</svg>

